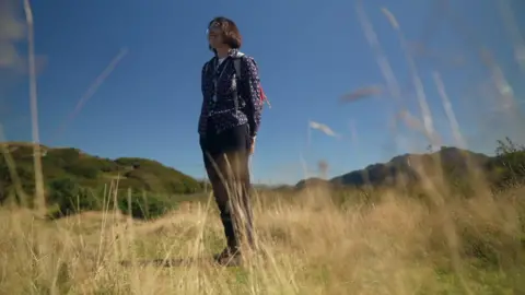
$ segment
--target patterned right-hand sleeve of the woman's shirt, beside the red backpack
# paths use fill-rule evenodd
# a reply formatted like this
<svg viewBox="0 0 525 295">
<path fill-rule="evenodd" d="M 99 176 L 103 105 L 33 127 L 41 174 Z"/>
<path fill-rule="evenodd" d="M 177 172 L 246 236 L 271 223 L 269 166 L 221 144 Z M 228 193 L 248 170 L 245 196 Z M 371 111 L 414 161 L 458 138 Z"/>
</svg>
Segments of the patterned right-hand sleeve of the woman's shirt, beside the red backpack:
<svg viewBox="0 0 525 295">
<path fill-rule="evenodd" d="M 242 76 L 244 80 L 243 95 L 246 101 L 246 116 L 248 117 L 250 137 L 255 138 L 259 130 L 262 101 L 260 99 L 259 74 L 257 63 L 250 57 L 242 59 Z"/>
</svg>

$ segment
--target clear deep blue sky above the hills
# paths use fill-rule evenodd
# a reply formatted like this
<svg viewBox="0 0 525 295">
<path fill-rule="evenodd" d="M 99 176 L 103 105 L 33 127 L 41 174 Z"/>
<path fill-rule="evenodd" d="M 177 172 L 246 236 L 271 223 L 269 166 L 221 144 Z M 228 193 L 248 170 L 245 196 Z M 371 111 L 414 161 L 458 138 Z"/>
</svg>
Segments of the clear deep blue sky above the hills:
<svg viewBox="0 0 525 295">
<path fill-rule="evenodd" d="M 242 51 L 253 56 L 272 108 L 266 107 L 253 162 L 254 180 L 295 182 L 304 177 L 301 156 L 312 169 L 329 164 L 330 176 L 399 153 L 422 151 L 425 143 L 395 149 L 387 128 L 393 103 L 377 96 L 352 104 L 339 97 L 370 84 L 384 84 L 373 50 L 355 12 L 355 2 L 334 1 L 32 1 L 36 52 L 44 60 L 38 76 L 40 141 L 74 146 L 104 157 L 138 156 L 160 161 L 202 177 L 197 120 L 201 105 L 200 70 L 210 58 L 206 26 L 210 19 L 233 19 L 244 36 Z M 440 16 L 418 0 L 364 1 L 387 54 L 407 107 L 420 115 L 408 67 L 395 31 L 381 12 L 387 5 L 410 42 L 424 43 L 436 57 L 417 56 L 435 128 L 453 144 L 432 82 L 439 70 L 470 148 L 491 152 L 505 134 L 523 140 L 516 128 L 490 107 L 497 96 L 490 72 L 476 57 L 486 46 L 523 98 L 524 75 L 513 60 L 511 39 L 494 1 L 451 1 L 462 24 Z M 462 3 L 456 3 L 462 2 Z M 514 0 L 514 17 L 524 11 Z M 525 20 L 518 20 L 524 31 Z M 26 45 L 18 44 L 21 55 Z M 82 109 L 57 135 L 80 97 L 121 48 L 128 54 Z M 460 56 L 463 66 L 452 64 Z M 5 69 L 0 74 L 5 75 Z M 2 123 L 8 140 L 31 140 L 27 76 L 12 73 L 1 83 Z M 8 81 L 9 83 L 7 83 Z M 482 86 L 485 85 L 485 87 Z M 490 105 L 492 104 L 492 105 Z M 312 130 L 307 121 L 330 126 L 341 139 Z M 352 142 L 350 126 L 357 130 Z M 413 134 L 415 132 L 412 132 Z M 409 134 L 407 132 L 407 134 Z M 518 138 L 522 137 L 522 138 Z"/>
</svg>

